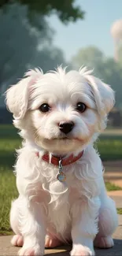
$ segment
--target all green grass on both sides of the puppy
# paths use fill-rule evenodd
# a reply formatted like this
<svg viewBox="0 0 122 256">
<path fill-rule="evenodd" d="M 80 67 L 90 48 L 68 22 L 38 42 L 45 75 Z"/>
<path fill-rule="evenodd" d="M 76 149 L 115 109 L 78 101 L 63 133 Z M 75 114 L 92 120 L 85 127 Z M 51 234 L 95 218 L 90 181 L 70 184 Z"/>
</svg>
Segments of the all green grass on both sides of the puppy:
<svg viewBox="0 0 122 256">
<path fill-rule="evenodd" d="M 9 209 L 13 198 L 17 197 L 13 165 L 15 162 L 15 149 L 20 147 L 20 138 L 12 125 L 0 126 L 0 234 L 9 234 Z M 95 146 L 96 147 L 96 146 Z M 122 135 L 102 135 L 97 143 L 102 160 L 122 159 Z M 106 184 L 108 190 L 119 187 Z M 119 188 L 120 189 L 120 188 Z M 122 209 L 118 210 L 119 213 Z"/>
</svg>

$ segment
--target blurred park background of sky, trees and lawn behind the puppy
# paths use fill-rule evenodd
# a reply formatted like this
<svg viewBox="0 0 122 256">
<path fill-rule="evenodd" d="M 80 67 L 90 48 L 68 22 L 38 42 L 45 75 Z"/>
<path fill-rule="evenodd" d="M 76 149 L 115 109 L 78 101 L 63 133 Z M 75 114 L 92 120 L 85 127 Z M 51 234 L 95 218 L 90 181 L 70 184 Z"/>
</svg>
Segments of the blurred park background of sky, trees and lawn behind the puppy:
<svg viewBox="0 0 122 256">
<path fill-rule="evenodd" d="M 106 187 L 122 187 L 122 1 L 0 0 L 0 234 L 10 232 L 9 205 L 17 196 L 12 166 L 20 147 L 3 93 L 27 69 L 46 72 L 61 64 L 87 65 L 116 92 L 108 128 L 94 147 L 111 173 Z"/>
</svg>

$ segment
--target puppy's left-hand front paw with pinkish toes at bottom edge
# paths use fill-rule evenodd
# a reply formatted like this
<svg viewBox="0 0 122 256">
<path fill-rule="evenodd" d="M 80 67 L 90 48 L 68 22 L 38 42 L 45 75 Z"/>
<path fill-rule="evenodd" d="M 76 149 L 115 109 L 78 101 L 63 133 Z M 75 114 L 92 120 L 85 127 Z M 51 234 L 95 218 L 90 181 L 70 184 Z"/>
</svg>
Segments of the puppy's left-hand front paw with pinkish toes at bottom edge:
<svg viewBox="0 0 122 256">
<path fill-rule="evenodd" d="M 19 256 L 42 256 L 44 255 L 44 250 L 41 250 L 39 247 L 29 247 L 24 248 L 22 247 L 19 252 Z"/>
</svg>

